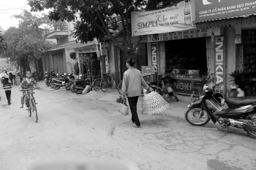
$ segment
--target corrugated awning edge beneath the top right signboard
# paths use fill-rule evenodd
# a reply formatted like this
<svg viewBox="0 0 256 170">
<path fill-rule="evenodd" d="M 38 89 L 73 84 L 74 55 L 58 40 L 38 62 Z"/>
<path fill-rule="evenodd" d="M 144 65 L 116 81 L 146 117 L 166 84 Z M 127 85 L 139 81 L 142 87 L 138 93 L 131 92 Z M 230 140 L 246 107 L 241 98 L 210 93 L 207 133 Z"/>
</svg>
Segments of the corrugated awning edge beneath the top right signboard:
<svg viewBox="0 0 256 170">
<path fill-rule="evenodd" d="M 196 23 L 197 28 L 216 28 L 221 26 L 236 26 L 236 25 L 246 25 L 246 24 L 255 24 L 256 15 L 244 15 L 239 17 L 230 17 L 217 20 L 209 20 L 200 23 Z"/>
</svg>

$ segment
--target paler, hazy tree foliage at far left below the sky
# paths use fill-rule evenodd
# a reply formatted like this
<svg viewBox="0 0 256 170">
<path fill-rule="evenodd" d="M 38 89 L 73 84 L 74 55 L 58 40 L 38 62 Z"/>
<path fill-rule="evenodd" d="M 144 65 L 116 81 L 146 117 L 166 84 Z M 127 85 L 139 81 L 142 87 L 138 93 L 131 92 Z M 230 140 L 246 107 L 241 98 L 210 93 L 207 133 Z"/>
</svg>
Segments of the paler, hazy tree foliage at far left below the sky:
<svg viewBox="0 0 256 170">
<path fill-rule="evenodd" d="M 28 65 L 29 61 L 43 57 L 46 50 L 56 47 L 54 42 L 44 38 L 40 28 L 52 23 L 47 17 L 32 16 L 26 10 L 15 17 L 19 19 L 19 27 L 10 27 L 3 35 L 9 44 L 4 56 L 10 62 Z"/>
</svg>

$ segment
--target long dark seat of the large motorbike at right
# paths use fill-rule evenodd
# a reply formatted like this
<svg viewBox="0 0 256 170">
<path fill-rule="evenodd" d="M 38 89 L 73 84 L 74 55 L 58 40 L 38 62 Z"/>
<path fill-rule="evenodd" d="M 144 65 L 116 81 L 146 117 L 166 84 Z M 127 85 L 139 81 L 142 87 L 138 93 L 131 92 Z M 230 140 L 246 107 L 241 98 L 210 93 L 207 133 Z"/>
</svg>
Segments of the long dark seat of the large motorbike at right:
<svg viewBox="0 0 256 170">
<path fill-rule="evenodd" d="M 249 96 L 249 97 L 228 97 L 225 101 L 227 105 L 234 105 L 234 106 L 246 106 L 256 103 L 256 97 Z"/>
</svg>

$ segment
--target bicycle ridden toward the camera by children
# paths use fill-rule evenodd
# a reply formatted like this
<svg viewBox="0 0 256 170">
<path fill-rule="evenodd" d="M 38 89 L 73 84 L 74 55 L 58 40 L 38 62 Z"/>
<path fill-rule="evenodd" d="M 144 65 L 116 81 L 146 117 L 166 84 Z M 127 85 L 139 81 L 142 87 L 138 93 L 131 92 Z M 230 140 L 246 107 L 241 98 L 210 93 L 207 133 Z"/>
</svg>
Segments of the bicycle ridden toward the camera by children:
<svg viewBox="0 0 256 170">
<path fill-rule="evenodd" d="M 35 92 L 33 92 L 34 89 L 36 88 L 28 88 L 20 91 L 25 91 L 27 100 L 29 100 L 29 109 L 27 110 L 29 116 L 31 117 L 31 112 L 32 112 L 35 122 L 38 122 L 37 108 L 35 106 L 35 98 L 33 96 L 33 94 L 35 94 Z"/>
</svg>

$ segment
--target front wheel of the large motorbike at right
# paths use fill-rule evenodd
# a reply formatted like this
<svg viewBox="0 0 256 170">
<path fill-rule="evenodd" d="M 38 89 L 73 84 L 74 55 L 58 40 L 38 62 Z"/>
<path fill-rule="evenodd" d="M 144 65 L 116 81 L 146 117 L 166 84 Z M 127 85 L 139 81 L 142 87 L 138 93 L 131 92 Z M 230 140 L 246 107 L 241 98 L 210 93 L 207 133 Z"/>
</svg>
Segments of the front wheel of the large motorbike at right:
<svg viewBox="0 0 256 170">
<path fill-rule="evenodd" d="M 192 114 L 190 113 L 190 111 L 192 111 Z M 189 108 L 189 110 L 186 111 L 186 113 L 185 113 L 186 121 L 189 122 L 189 124 L 194 125 L 194 126 L 206 125 L 210 121 L 210 118 L 205 111 L 203 111 L 199 120 L 196 119 L 196 117 L 195 117 L 195 116 L 199 115 L 200 111 L 201 111 L 201 108 L 199 108 L 199 107 Z M 194 121 L 191 120 L 191 118 L 194 118 Z M 201 121 L 201 119 L 203 119 L 203 121 Z"/>
</svg>

